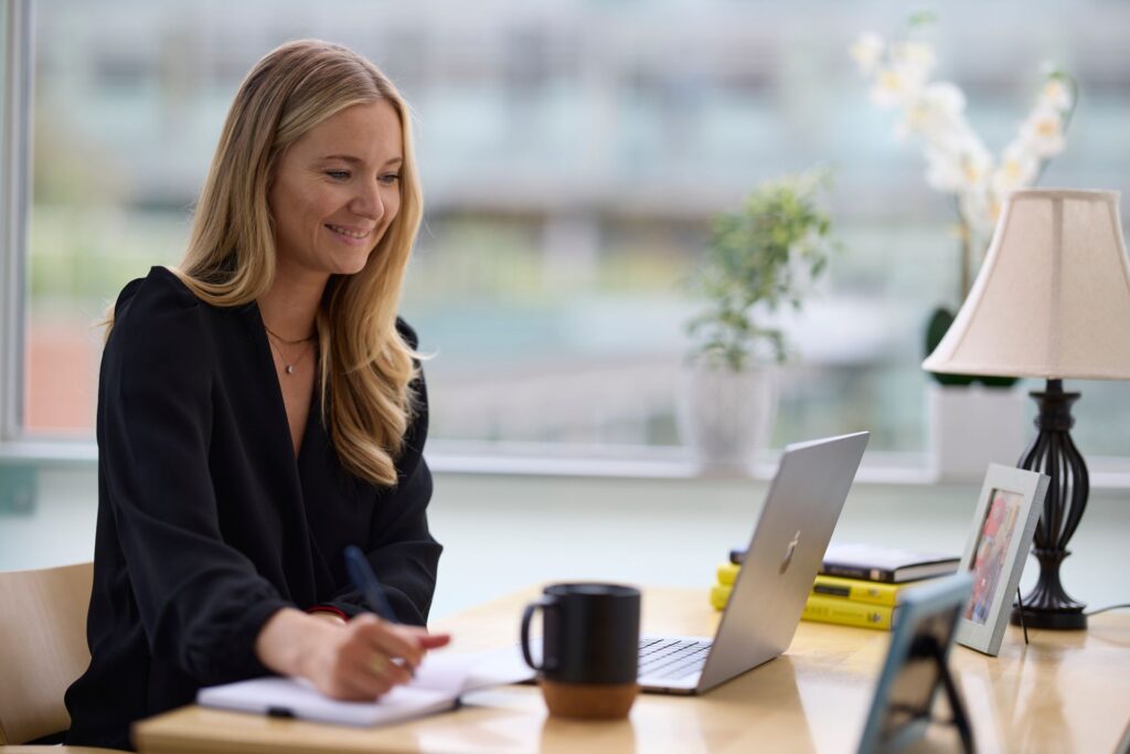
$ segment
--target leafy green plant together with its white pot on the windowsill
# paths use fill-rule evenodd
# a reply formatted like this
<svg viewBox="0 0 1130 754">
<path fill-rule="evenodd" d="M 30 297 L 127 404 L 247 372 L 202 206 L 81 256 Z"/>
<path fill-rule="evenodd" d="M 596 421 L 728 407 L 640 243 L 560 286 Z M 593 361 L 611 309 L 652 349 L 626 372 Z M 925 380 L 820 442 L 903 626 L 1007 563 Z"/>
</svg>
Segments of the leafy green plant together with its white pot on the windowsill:
<svg viewBox="0 0 1130 754">
<path fill-rule="evenodd" d="M 710 240 L 689 278 L 703 303 L 679 424 L 698 462 L 746 468 L 764 447 L 776 411 L 774 365 L 789 344 L 774 314 L 800 310 L 832 250 L 832 219 L 819 205 L 826 170 L 762 183 L 733 211 L 712 218 Z"/>
</svg>

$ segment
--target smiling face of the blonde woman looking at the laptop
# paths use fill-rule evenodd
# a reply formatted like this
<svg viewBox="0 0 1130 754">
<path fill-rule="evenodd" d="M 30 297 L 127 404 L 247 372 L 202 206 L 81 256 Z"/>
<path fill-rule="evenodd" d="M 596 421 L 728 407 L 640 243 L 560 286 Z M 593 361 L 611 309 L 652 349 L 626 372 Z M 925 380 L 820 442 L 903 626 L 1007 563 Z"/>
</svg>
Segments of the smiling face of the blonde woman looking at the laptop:
<svg viewBox="0 0 1130 754">
<path fill-rule="evenodd" d="M 353 105 L 282 153 L 268 192 L 277 271 L 359 272 L 400 209 L 403 138 L 386 102 Z"/>
</svg>

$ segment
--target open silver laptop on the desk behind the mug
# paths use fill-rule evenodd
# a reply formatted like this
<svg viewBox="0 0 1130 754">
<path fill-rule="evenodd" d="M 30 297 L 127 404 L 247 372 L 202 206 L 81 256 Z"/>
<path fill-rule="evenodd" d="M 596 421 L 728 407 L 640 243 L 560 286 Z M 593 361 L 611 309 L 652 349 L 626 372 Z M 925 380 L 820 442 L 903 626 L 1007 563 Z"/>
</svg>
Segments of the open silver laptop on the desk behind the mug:
<svg viewBox="0 0 1130 754">
<path fill-rule="evenodd" d="M 784 449 L 718 632 L 641 636 L 643 691 L 702 694 L 789 648 L 869 436 Z"/>
</svg>

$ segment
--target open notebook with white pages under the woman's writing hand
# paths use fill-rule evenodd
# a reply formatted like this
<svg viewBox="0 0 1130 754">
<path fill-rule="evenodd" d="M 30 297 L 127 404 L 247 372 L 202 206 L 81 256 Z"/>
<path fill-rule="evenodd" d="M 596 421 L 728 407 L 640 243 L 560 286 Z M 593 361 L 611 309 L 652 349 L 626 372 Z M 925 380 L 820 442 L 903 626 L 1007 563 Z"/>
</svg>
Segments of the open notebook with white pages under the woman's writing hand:
<svg viewBox="0 0 1130 754">
<path fill-rule="evenodd" d="M 197 703 L 240 712 L 293 717 L 349 726 L 379 726 L 450 710 L 477 688 L 519 683 L 532 676 L 516 647 L 472 653 L 436 651 L 416 678 L 375 702 L 330 699 L 298 678 L 270 676 L 201 688 Z"/>
</svg>

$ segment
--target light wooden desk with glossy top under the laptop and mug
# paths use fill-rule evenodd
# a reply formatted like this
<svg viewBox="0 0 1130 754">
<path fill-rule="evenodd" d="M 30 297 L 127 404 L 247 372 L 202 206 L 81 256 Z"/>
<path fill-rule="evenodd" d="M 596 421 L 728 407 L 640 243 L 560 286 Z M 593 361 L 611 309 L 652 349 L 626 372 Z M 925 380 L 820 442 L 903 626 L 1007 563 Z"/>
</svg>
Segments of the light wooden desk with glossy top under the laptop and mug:
<svg viewBox="0 0 1130 754">
<path fill-rule="evenodd" d="M 453 649 L 516 641 L 524 591 L 452 616 L 436 629 Z M 711 635 L 703 590 L 649 589 L 644 631 Z M 1130 616 L 1095 616 L 1085 632 L 1009 627 L 999 658 L 955 647 L 951 665 L 981 752 L 1113 752 L 1130 720 Z M 643 694 L 629 720 L 549 719 L 532 686 L 464 697 L 457 712 L 373 729 L 182 708 L 140 722 L 142 752 L 854 752 L 889 634 L 801 623 L 781 658 L 702 697 Z M 915 751 L 957 751 L 933 726 Z"/>
</svg>

